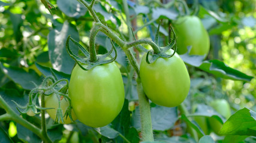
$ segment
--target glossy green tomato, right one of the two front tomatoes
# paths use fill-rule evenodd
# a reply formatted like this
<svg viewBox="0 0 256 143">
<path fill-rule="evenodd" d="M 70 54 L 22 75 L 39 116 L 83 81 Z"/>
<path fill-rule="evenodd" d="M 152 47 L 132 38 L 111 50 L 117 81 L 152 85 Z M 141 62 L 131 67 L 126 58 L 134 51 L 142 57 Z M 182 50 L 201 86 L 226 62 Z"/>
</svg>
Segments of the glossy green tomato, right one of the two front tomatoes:
<svg viewBox="0 0 256 143">
<path fill-rule="evenodd" d="M 167 54 L 174 51 L 170 49 Z M 177 53 L 171 58 L 158 58 L 146 63 L 146 54 L 140 63 L 140 79 L 147 97 L 155 104 L 175 107 L 181 104 L 189 92 L 188 70 Z"/>
</svg>

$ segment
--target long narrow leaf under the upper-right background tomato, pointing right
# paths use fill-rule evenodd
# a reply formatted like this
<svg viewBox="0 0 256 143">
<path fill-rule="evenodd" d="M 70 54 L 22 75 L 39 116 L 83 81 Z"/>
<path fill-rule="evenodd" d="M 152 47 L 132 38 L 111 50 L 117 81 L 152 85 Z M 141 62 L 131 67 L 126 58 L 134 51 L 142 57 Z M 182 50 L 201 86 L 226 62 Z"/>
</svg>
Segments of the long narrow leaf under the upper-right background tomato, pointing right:
<svg viewBox="0 0 256 143">
<path fill-rule="evenodd" d="M 189 48 L 190 47 L 188 47 L 188 49 Z M 185 54 L 180 55 L 180 57 L 186 64 L 189 64 L 194 67 L 198 67 L 201 70 L 204 70 L 208 73 L 211 73 L 215 76 L 218 76 L 224 79 L 242 80 L 245 82 L 249 82 L 254 78 L 236 69 L 232 69 L 231 67 L 228 67 L 222 61 L 219 61 L 219 60 L 203 61 L 204 59 L 203 55 L 189 55 L 188 52 L 186 52 Z"/>
</svg>

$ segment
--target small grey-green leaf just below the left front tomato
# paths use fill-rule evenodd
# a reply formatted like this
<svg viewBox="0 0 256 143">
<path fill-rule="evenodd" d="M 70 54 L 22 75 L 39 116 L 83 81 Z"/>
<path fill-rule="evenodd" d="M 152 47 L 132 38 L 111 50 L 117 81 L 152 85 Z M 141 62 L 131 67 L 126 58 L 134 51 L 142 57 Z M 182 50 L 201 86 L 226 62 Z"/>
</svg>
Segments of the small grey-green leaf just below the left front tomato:
<svg viewBox="0 0 256 143">
<path fill-rule="evenodd" d="M 110 139 L 116 138 L 119 135 L 119 132 L 113 128 L 110 128 L 110 126 L 99 128 L 97 132 Z"/>
</svg>

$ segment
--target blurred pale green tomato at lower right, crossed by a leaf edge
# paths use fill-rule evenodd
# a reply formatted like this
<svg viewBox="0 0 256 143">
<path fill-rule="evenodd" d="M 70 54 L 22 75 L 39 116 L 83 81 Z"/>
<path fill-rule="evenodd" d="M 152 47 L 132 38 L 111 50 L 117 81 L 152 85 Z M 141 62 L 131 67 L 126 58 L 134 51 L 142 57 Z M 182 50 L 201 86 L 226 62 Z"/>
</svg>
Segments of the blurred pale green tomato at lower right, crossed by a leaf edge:
<svg viewBox="0 0 256 143">
<path fill-rule="evenodd" d="M 219 114 L 228 119 L 231 116 L 230 105 L 226 100 L 215 100 L 210 104 Z M 215 118 L 209 118 L 210 126 L 216 134 L 218 134 L 219 130 L 222 128 L 222 124 Z"/>
</svg>

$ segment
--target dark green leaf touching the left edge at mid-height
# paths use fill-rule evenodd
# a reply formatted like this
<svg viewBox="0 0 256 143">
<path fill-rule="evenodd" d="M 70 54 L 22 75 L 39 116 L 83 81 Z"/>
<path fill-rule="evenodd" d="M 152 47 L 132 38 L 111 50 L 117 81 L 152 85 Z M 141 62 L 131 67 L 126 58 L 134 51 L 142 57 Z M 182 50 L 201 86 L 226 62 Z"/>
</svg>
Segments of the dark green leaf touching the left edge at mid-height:
<svg viewBox="0 0 256 143">
<path fill-rule="evenodd" d="M 26 72 L 19 67 L 12 67 L 8 64 L 0 63 L 1 70 L 10 77 L 15 83 L 18 83 L 24 89 L 31 90 L 35 88 L 35 84 L 40 85 L 43 81 L 43 77 L 38 76 L 38 74 L 34 71 L 29 69 L 29 72 Z M 34 82 L 34 83 L 33 83 Z"/>
</svg>

